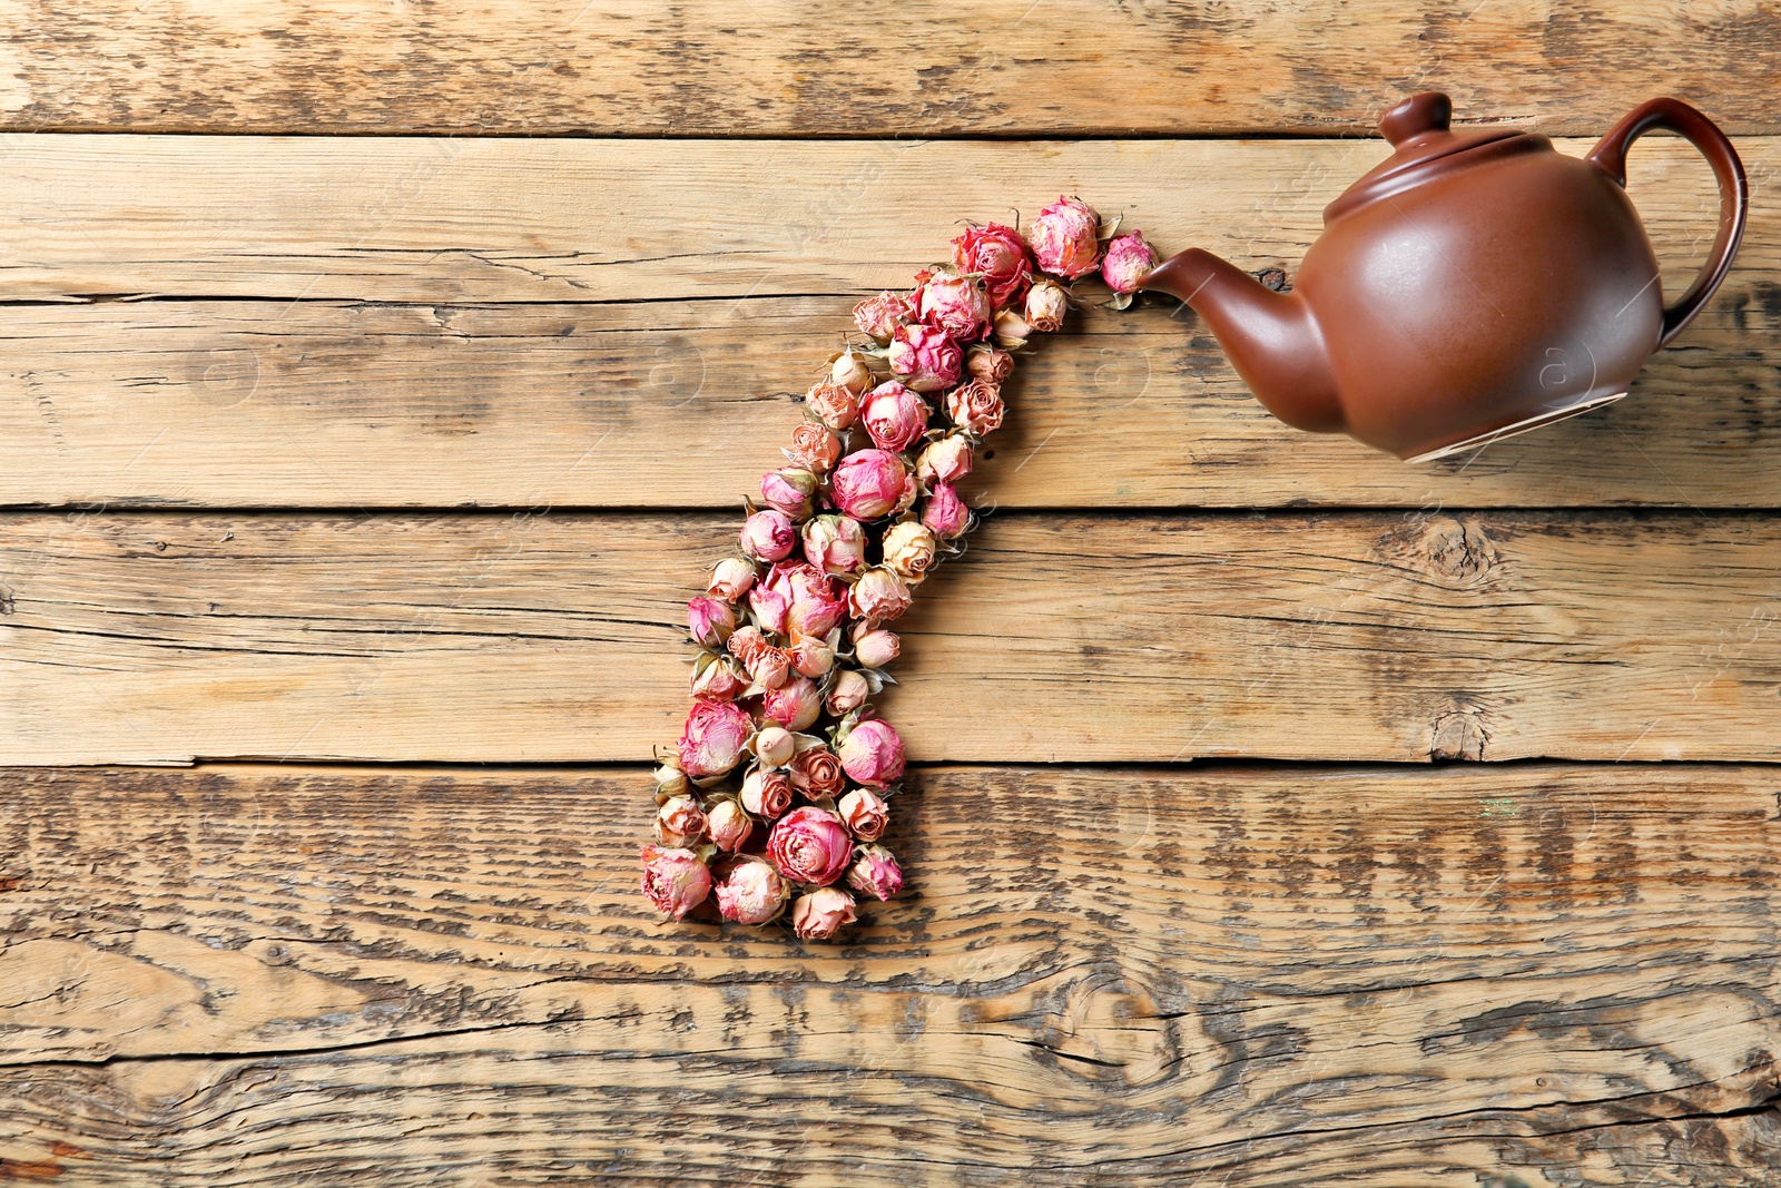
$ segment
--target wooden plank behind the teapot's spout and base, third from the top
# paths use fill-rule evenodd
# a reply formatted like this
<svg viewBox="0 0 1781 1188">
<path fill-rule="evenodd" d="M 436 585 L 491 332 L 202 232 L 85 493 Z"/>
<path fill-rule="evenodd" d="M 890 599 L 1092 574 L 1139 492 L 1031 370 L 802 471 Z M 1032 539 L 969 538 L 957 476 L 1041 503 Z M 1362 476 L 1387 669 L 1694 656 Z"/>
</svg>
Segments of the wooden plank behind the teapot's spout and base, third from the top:
<svg viewBox="0 0 1781 1188">
<path fill-rule="evenodd" d="M 736 508 L 851 303 L 0 306 L 0 502 Z M 1186 321 L 1088 308 L 1031 354 L 976 497 L 1781 506 L 1781 292 L 1749 273 L 1631 399 L 1425 467 L 1281 426 Z"/>
</svg>

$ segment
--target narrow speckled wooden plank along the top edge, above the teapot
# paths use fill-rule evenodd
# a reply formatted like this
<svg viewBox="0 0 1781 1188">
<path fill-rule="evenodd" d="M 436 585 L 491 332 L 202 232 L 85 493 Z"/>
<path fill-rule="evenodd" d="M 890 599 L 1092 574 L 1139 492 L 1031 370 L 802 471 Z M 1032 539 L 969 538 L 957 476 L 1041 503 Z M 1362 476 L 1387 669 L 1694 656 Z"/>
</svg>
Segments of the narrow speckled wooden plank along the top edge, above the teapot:
<svg viewBox="0 0 1781 1188">
<path fill-rule="evenodd" d="M 1605 128 L 1681 94 L 1776 128 L 1761 4 L 1557 0 L 1101 5 L 988 0 L 25 4 L 11 128 L 627 135 L 1370 130 L 1409 91 L 1473 119 Z"/>
</svg>

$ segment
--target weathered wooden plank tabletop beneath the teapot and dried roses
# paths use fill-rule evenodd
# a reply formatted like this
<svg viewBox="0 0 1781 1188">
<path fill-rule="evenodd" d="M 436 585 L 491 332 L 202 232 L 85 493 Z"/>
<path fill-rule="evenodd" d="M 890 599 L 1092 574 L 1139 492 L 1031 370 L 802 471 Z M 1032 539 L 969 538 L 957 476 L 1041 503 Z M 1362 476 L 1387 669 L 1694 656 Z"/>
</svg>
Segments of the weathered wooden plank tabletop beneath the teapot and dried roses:
<svg viewBox="0 0 1781 1188">
<path fill-rule="evenodd" d="M 0 1181 L 1781 1183 L 1769 4 L 4 4 Z M 636 891 L 682 611 L 858 294 L 1081 192 L 1297 267 L 1378 112 L 1703 105 L 1738 265 L 1405 467 L 1090 310 L 844 944 Z M 1715 199 L 1635 151 L 1671 292 Z"/>
</svg>

